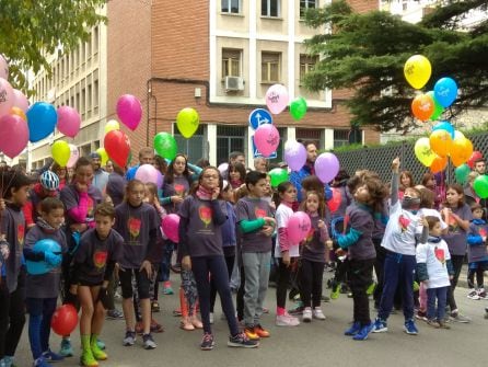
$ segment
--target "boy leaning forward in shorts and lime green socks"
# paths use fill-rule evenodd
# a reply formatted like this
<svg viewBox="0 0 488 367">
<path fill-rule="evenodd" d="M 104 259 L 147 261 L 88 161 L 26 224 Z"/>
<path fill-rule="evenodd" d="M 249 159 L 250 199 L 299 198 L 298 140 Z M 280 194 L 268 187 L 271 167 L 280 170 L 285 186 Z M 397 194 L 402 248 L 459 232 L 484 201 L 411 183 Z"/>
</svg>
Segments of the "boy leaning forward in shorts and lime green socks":
<svg viewBox="0 0 488 367">
<path fill-rule="evenodd" d="M 107 309 L 107 286 L 120 257 L 124 239 L 112 229 L 115 209 L 108 203 L 95 208 L 95 228 L 83 233 L 80 249 L 74 255 L 73 280 L 78 284 L 81 303 L 80 337 L 82 354 L 80 364 L 98 366 L 97 360 L 108 358 L 98 344 Z"/>
</svg>

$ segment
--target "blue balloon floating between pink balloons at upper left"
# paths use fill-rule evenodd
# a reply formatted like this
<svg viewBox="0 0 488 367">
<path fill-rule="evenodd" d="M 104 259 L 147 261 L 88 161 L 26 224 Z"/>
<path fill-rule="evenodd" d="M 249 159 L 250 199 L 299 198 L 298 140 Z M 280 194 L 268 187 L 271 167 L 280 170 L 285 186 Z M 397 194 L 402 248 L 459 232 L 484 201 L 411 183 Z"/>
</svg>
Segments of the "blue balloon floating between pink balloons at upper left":
<svg viewBox="0 0 488 367">
<path fill-rule="evenodd" d="M 39 141 L 55 130 L 58 114 L 54 105 L 36 102 L 27 110 L 28 140 Z"/>
</svg>

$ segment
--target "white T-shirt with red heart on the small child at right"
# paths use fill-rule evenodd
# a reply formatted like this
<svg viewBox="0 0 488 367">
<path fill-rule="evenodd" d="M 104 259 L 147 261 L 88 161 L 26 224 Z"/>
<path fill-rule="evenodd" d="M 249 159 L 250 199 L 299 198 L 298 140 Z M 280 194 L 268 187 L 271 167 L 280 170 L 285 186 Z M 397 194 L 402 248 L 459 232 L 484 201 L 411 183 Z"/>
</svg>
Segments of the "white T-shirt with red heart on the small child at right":
<svg viewBox="0 0 488 367">
<path fill-rule="evenodd" d="M 449 273 L 446 261 L 451 259 L 449 253 L 448 243 L 444 240 L 440 242 L 427 242 L 420 243 L 417 246 L 417 263 L 427 264 L 427 274 L 429 280 L 427 282 L 427 288 L 441 288 L 449 287 Z"/>
</svg>

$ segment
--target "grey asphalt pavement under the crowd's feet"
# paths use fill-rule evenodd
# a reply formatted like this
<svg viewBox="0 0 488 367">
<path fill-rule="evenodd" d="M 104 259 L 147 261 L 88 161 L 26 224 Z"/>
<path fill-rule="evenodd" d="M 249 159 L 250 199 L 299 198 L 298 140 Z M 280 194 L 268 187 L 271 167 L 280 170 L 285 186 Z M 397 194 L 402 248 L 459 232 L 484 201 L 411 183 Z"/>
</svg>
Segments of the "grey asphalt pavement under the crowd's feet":
<svg viewBox="0 0 488 367">
<path fill-rule="evenodd" d="M 178 319 L 172 316 L 177 305 L 176 295 L 161 296 L 163 309 L 155 313 L 155 318 L 163 323 L 165 332 L 154 335 L 159 347 L 144 351 L 140 339 L 132 347 L 121 346 L 124 321 L 107 321 L 103 340 L 107 344 L 109 359 L 101 363 L 101 366 L 483 366 L 486 365 L 484 355 L 488 335 L 484 308 L 488 307 L 488 301 L 469 300 L 466 294 L 465 288 L 456 290 L 461 310 L 473 318 L 470 324 L 454 323 L 451 330 L 433 330 L 419 322 L 420 334 L 409 336 L 402 330 L 403 316 L 394 314 L 390 319 L 387 333 L 371 334 L 365 342 L 355 342 L 342 335 L 352 313 L 352 302 L 345 295 L 338 300 L 323 303 L 327 320 L 322 322 L 313 321 L 293 329 L 276 328 L 271 312 L 263 319 L 263 324 L 271 331 L 271 337 L 262 341 L 257 349 L 230 348 L 225 345 L 228 329 L 225 322 L 220 320 L 219 310 L 213 330 L 217 346 L 211 352 L 198 348 L 199 331 L 184 332 L 178 329 Z M 272 288 L 268 291 L 267 307 L 271 310 L 275 307 Z M 27 328 L 18 351 L 19 367 L 32 364 L 26 331 Z M 51 345 L 57 349 L 59 337 L 51 337 Z M 78 335 L 73 335 L 73 345 L 79 345 Z M 78 362 L 79 358 L 73 357 L 57 366 L 78 366 Z"/>
</svg>

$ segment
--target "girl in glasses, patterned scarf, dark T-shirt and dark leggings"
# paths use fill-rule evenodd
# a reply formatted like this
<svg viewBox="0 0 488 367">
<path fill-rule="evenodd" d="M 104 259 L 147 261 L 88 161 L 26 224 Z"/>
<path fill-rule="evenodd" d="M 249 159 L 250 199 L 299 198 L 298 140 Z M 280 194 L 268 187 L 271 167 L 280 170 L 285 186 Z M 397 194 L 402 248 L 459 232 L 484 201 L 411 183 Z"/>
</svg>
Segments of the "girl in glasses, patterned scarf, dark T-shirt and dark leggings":
<svg viewBox="0 0 488 367">
<path fill-rule="evenodd" d="M 204 320 L 202 351 L 213 348 L 213 335 L 210 326 L 210 284 L 209 274 L 222 301 L 231 336 L 229 346 L 256 347 L 257 342 L 249 341 L 240 332 L 232 305 L 229 275 L 222 251 L 221 226 L 225 222 L 224 203 L 218 200 L 222 180 L 219 171 L 207 167 L 200 174 L 195 192 L 185 198 L 179 209 L 179 252 L 182 266 L 193 269 L 200 299 L 200 312 Z"/>
</svg>

